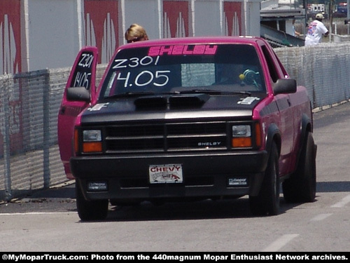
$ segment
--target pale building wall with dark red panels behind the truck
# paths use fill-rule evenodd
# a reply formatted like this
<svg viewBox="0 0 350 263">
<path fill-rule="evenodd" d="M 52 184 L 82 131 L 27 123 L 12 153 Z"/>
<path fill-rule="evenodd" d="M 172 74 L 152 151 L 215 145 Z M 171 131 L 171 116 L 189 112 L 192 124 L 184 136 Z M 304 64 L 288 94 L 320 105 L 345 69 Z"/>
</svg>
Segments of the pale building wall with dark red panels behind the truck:
<svg viewBox="0 0 350 263">
<path fill-rule="evenodd" d="M 150 39 L 260 35 L 260 0 L 0 0 L 0 75 L 69 67 L 82 46 L 106 63 L 132 23 Z"/>
</svg>

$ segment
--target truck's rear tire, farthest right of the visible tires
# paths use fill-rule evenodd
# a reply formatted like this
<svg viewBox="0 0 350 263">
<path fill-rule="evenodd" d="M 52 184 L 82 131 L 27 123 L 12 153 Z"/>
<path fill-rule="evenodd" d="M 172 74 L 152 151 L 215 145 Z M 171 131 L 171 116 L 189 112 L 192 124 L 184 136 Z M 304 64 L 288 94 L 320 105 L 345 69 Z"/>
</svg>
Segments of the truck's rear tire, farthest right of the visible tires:
<svg viewBox="0 0 350 263">
<path fill-rule="evenodd" d="M 316 147 L 307 133 L 295 173 L 282 184 L 283 197 L 289 203 L 313 202 L 316 197 Z"/>
</svg>

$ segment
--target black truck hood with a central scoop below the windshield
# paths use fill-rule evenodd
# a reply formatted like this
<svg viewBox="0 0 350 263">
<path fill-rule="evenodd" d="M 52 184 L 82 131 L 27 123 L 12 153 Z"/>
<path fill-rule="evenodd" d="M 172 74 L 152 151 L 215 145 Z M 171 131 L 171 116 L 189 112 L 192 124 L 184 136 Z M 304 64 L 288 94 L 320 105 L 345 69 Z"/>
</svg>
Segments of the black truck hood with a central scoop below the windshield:
<svg viewBox="0 0 350 263">
<path fill-rule="evenodd" d="M 265 93 L 253 95 L 148 95 L 99 102 L 85 109 L 80 123 L 113 121 L 152 121 L 160 119 L 198 119 L 218 117 L 251 117 L 253 108 Z"/>
</svg>

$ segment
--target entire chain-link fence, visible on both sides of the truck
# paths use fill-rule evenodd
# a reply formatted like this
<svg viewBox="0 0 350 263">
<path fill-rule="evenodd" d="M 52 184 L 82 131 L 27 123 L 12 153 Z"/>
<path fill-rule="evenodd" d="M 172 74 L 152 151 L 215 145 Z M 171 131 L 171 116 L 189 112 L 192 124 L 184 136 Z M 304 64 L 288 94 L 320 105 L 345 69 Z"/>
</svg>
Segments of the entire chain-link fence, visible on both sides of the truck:
<svg viewBox="0 0 350 263">
<path fill-rule="evenodd" d="M 350 43 L 275 48 L 314 109 L 350 97 Z M 97 81 L 106 65 L 99 65 Z M 57 114 L 70 68 L 0 76 L 0 201 L 66 182 Z"/>
</svg>

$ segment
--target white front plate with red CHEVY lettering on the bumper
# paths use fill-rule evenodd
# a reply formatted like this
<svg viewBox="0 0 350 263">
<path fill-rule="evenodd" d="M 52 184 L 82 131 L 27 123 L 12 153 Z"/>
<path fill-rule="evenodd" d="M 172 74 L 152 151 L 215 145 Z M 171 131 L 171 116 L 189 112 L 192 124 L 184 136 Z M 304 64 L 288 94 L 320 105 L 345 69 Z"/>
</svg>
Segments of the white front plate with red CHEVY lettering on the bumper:
<svg viewBox="0 0 350 263">
<path fill-rule="evenodd" d="M 183 182 L 181 164 L 161 164 L 149 166 L 151 184 Z"/>
</svg>

